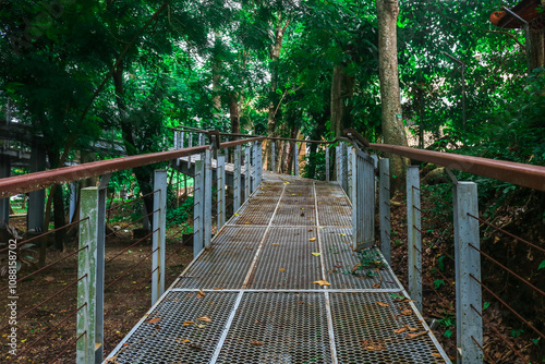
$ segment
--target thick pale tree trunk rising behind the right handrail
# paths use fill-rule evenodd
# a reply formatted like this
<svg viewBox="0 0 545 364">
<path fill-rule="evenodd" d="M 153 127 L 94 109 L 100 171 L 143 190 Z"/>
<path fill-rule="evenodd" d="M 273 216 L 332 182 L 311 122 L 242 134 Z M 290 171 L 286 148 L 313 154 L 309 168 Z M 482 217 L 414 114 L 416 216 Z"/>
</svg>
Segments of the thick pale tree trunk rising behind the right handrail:
<svg viewBox="0 0 545 364">
<path fill-rule="evenodd" d="M 383 106 L 383 138 L 386 144 L 407 146 L 407 136 L 401 119 L 399 96 L 397 20 L 399 3 L 397 0 L 377 0 L 378 19 L 378 65 L 380 77 L 380 100 Z M 404 160 L 389 155 L 390 174 L 395 191 L 401 191 L 404 175 Z"/>
</svg>

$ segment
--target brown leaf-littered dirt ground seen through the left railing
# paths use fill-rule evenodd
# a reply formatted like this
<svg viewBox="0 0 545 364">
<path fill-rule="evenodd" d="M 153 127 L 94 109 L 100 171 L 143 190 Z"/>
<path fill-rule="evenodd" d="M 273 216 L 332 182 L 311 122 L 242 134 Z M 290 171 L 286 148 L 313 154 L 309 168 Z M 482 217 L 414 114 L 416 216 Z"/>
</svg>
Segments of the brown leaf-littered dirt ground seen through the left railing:
<svg viewBox="0 0 545 364">
<path fill-rule="evenodd" d="M 169 233 L 169 235 L 174 235 L 174 233 Z M 167 262 L 167 287 L 193 259 L 192 246 L 182 245 L 180 235 L 172 240 L 167 239 L 166 256 L 170 256 Z M 123 230 L 106 241 L 105 284 L 108 286 L 124 272 L 132 270 L 105 291 L 105 355 L 113 350 L 152 305 L 152 256 L 146 257 L 152 252 L 150 240 L 146 239 L 120 254 L 134 242 L 132 233 L 123 232 Z M 49 250 L 47 264 L 76 251 L 75 242 L 69 242 L 64 252 Z M 117 256 L 118 254 L 120 255 Z M 112 259 L 113 257 L 116 258 Z M 142 264 L 132 268 L 140 260 Z M 23 268 L 19 271 L 19 278 L 25 277 L 32 271 L 29 268 Z M 74 282 L 77 278 L 77 254 L 74 254 L 17 284 L 17 314 L 20 316 L 16 325 L 17 353 L 22 356 L 17 357 L 14 363 L 75 362 L 77 302 Z M 0 287 L 3 289 L 7 284 L 7 277 L 2 277 Z M 35 305 L 59 291 L 62 292 L 21 317 Z M 8 291 L 3 290 L 0 296 L 1 307 L 7 307 Z M 8 310 L 0 313 L 0 336 L 3 342 L 0 347 L 0 362 L 2 363 L 10 362 L 9 348 L 5 344 L 10 332 L 9 313 Z"/>
</svg>

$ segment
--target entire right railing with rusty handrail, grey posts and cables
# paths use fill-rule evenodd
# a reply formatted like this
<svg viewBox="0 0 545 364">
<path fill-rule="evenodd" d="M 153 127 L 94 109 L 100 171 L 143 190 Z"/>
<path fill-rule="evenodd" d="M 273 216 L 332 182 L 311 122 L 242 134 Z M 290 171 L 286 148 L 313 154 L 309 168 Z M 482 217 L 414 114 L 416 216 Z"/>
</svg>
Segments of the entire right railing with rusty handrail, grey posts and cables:
<svg viewBox="0 0 545 364">
<path fill-rule="evenodd" d="M 483 219 L 479 211 L 479 199 L 477 199 L 477 184 L 474 182 L 458 181 L 450 169 L 456 169 L 482 177 L 492 178 L 495 180 L 513 183 L 517 185 L 530 187 L 536 191 L 545 191 L 545 167 L 516 163 L 502 160 L 493 160 L 479 157 L 469 157 L 463 155 L 455 155 L 448 153 L 437 153 L 429 150 L 421 150 L 415 148 L 393 146 L 393 145 L 383 145 L 383 144 L 370 144 L 363 137 L 361 137 L 353 130 L 346 131 L 347 136 L 352 141 L 352 155 L 362 154 L 362 150 L 377 150 L 390 155 L 398 155 L 401 157 L 410 158 L 412 160 L 435 163 L 446 168 L 448 175 L 452 182 L 452 201 L 441 203 L 445 206 L 450 205 L 452 208 L 452 221 L 451 221 L 451 233 L 453 235 L 453 257 L 447 254 L 449 258 L 453 260 L 456 277 L 453 280 L 448 279 L 437 267 L 423 267 L 423 251 L 428 246 L 422 245 L 422 236 L 425 234 L 425 229 L 422 226 L 422 215 L 424 209 L 421 205 L 421 197 L 424 191 L 421 186 L 420 181 L 420 167 L 417 165 L 412 165 L 407 168 L 407 246 L 408 246 L 408 283 L 409 283 L 409 294 L 412 300 L 415 301 L 415 305 L 422 312 L 423 304 L 423 272 L 427 269 L 440 274 L 440 276 L 455 286 L 456 290 L 456 333 L 457 333 L 457 356 L 458 363 L 483 363 L 484 357 L 486 357 L 491 363 L 495 360 L 486 353 L 483 349 L 487 343 L 483 342 L 483 320 L 488 325 L 488 327 L 497 335 L 498 339 L 507 343 L 512 353 L 514 353 L 519 360 L 528 363 L 529 360 L 521 354 L 513 344 L 505 338 L 505 336 L 494 327 L 491 326 L 489 320 L 486 319 L 485 313 L 483 311 L 486 308 L 483 306 L 483 295 L 482 290 L 486 291 L 486 294 L 492 300 L 495 300 L 498 304 L 502 305 L 507 311 L 513 314 L 513 316 L 524 324 L 530 331 L 537 337 L 537 342 L 540 339 L 545 340 L 545 333 L 537 329 L 531 320 L 524 318 L 519 312 L 517 312 L 512 305 L 509 305 L 505 300 L 500 298 L 500 294 L 494 292 L 487 286 L 487 276 L 489 272 L 482 274 L 481 257 L 484 257 L 491 262 L 494 267 L 502 269 L 506 274 L 510 275 L 518 281 L 524 283 L 523 287 L 529 290 L 529 294 L 536 300 L 542 300 L 545 296 L 543 288 L 536 287 L 529 282 L 517 272 L 512 271 L 506 265 L 499 263 L 497 259 L 491 256 L 491 254 L 485 253 L 485 248 L 481 247 L 481 231 L 480 223 L 484 227 L 492 228 L 493 232 L 507 234 L 511 239 L 522 242 L 528 248 L 531 250 L 532 258 L 534 254 L 545 253 L 545 248 L 540 246 L 540 244 L 531 243 L 524 239 L 516 236 L 494 225 L 492 225 L 486 219 Z M 380 247 L 385 258 L 390 262 L 390 245 L 391 245 L 391 227 L 390 227 L 390 178 L 389 174 L 389 160 L 388 158 L 380 158 L 378 160 L 378 170 L 373 174 L 364 175 L 358 171 L 358 167 L 353 162 L 350 162 L 350 158 L 346 158 L 343 153 L 343 147 L 338 147 L 337 155 L 340 160 L 338 161 L 338 180 L 340 180 L 341 185 L 348 185 L 344 187 L 349 193 L 349 196 L 354 201 L 355 195 L 351 191 L 350 184 L 351 179 L 353 179 L 354 173 L 356 179 L 363 179 L 362 185 L 372 186 L 378 179 L 376 192 L 378 195 L 378 220 L 380 230 Z M 350 155 L 350 153 L 349 153 Z M 364 154 L 367 156 L 366 154 Z M 348 161 L 349 169 L 352 168 L 354 171 L 346 171 L 346 166 Z M 371 163 L 371 161 L 370 161 Z M 365 187 L 362 187 L 360 182 L 354 183 L 358 193 L 364 192 Z M 375 190 L 374 190 L 375 191 Z M 435 197 L 437 198 L 437 197 Z M 374 203 L 370 199 L 368 206 L 373 206 Z M 358 206 L 358 204 L 356 204 Z M 373 222 L 368 222 L 370 225 Z M 448 221 L 445 221 L 448 225 Z M 355 235 L 354 235 L 355 236 Z M 499 240 L 499 238 L 496 236 Z M 545 260 L 543 260 L 545 262 Z M 542 263 L 543 264 L 543 263 Z M 439 282 L 446 284 L 441 279 Z M 436 289 L 432 287 L 434 291 Z M 437 292 L 437 291 L 436 291 Z M 534 342 L 534 343 L 535 343 Z"/>
</svg>

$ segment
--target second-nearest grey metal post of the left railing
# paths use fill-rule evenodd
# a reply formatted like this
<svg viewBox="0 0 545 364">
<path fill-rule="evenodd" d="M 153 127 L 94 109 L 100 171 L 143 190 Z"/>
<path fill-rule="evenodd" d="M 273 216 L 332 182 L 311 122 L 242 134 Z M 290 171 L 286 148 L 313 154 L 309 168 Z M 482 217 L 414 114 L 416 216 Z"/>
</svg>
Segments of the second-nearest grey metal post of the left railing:
<svg viewBox="0 0 545 364">
<path fill-rule="evenodd" d="M 154 234 L 152 238 L 152 305 L 165 292 L 165 248 L 167 235 L 167 170 L 154 174 Z"/>
</svg>

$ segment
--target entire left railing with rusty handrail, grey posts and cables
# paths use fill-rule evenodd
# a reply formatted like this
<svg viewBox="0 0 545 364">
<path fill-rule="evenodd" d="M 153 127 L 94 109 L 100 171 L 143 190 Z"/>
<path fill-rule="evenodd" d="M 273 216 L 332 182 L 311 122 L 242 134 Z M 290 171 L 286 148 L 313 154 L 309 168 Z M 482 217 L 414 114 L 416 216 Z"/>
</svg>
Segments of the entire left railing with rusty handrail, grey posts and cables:
<svg viewBox="0 0 545 364">
<path fill-rule="evenodd" d="M 78 219 L 61 228 L 78 228 L 77 247 L 72 252 L 69 251 L 66 254 L 61 254 L 62 256 L 55 262 L 48 262 L 44 267 L 28 275 L 23 275 L 23 271 L 19 270 L 21 259 L 23 258 L 22 255 L 32 248 L 36 241 L 45 241 L 47 235 L 57 231 L 50 230 L 33 239 L 23 239 L 23 236 L 19 236 L 15 229 L 9 227 L 10 231 L 13 233 L 13 239 L 5 244 L 7 246 L 0 246 L 0 254 L 2 256 L 5 255 L 5 263 L 8 264 L 7 280 L 5 283 L 2 284 L 1 290 L 7 293 L 8 303 L 10 304 L 8 305 L 10 308 L 10 319 L 8 319 L 7 323 L 2 323 L 1 326 L 2 331 L 7 329 L 11 335 L 8 338 L 10 345 L 4 347 L 4 349 L 7 348 L 7 352 L 4 357 L 5 361 L 3 362 L 13 363 L 32 357 L 33 360 L 43 361 L 45 363 L 52 363 L 62 355 L 68 355 L 69 352 L 73 353 L 75 345 L 75 354 L 70 357 L 75 357 L 77 363 L 100 363 L 105 351 L 105 318 L 110 318 L 110 315 L 116 313 L 116 308 L 122 301 L 119 300 L 118 302 L 113 302 L 108 310 L 105 310 L 105 292 L 112 291 L 116 284 L 123 282 L 123 280 L 134 279 L 132 274 L 135 269 L 141 269 L 140 266 L 146 264 L 146 262 L 148 262 L 148 264 L 152 263 L 149 272 L 144 275 L 145 277 L 137 277 L 136 279 L 138 282 L 132 282 L 134 284 L 133 291 L 140 287 L 148 286 L 150 280 L 150 303 L 153 305 L 158 301 L 165 292 L 165 279 L 167 275 L 166 264 L 178 254 L 178 250 L 173 250 L 170 254 L 167 254 L 167 240 L 172 241 L 174 238 L 178 238 L 177 235 L 180 232 L 184 232 L 183 229 L 180 229 L 178 233 L 170 233 L 169 235 L 169 230 L 167 230 L 169 223 L 169 221 L 167 221 L 167 210 L 171 208 L 171 206 L 167 205 L 167 169 L 171 168 L 175 170 L 177 166 L 185 162 L 180 159 L 182 157 L 192 158 L 193 161 L 195 161 L 196 168 L 194 169 L 193 175 L 195 180 L 195 187 L 193 191 L 193 232 L 191 234 L 185 234 L 185 238 L 179 245 L 183 245 L 192 240 L 194 255 L 204 252 L 205 247 L 210 244 L 211 238 L 213 183 L 217 185 L 216 202 L 218 204 L 218 213 L 216 217 L 218 230 L 227 219 L 225 167 L 227 151 L 231 150 L 234 155 L 233 173 L 235 192 L 231 203 L 234 208 L 242 205 L 244 199 L 246 199 L 261 183 L 261 143 L 264 137 L 219 143 L 214 135 L 210 135 L 209 139 L 211 142 L 209 145 L 180 149 L 175 148 L 173 150 L 148 155 L 101 160 L 0 180 L 0 197 L 5 198 L 16 194 L 44 190 L 55 184 L 100 177 L 98 186 L 81 190 Z M 201 143 L 203 144 L 204 142 Z M 244 148 L 244 154 L 242 154 L 242 147 L 244 145 L 246 146 Z M 243 169 L 241 168 L 243 157 L 245 158 L 244 174 L 242 174 Z M 217 167 L 215 169 L 215 180 L 213 180 L 211 173 L 213 159 Z M 107 189 L 111 173 L 159 162 L 170 162 L 170 166 L 167 169 L 155 170 L 154 185 L 150 193 L 107 208 Z M 244 185 L 245 189 L 243 189 Z M 109 252 L 108 242 L 116 235 L 117 231 L 107 232 L 108 218 L 111 217 L 112 214 L 117 214 L 121 205 L 134 206 L 135 203 L 141 203 L 141 199 L 145 197 L 153 197 L 153 210 L 146 211 L 142 218 L 131 221 L 125 228 L 138 225 L 141 220 L 149 219 L 153 221 L 152 230 L 140 239 L 133 239 L 133 242 L 121 252 L 116 252 L 114 254 Z M 116 262 L 122 258 L 123 254 L 131 253 L 131 248 L 135 250 L 144 246 L 145 242 L 149 240 L 152 246 L 143 248 L 144 252 L 142 252 L 142 256 L 135 264 L 123 268 L 122 271 L 116 270 Z M 47 243 L 43 244 L 43 246 L 47 248 Z M 75 256 L 77 256 L 76 267 L 70 267 L 71 270 L 76 271 L 76 277 L 73 281 L 65 283 L 64 287 L 57 290 L 47 299 L 37 300 L 39 301 L 37 304 L 27 300 L 31 299 L 32 295 L 31 289 L 25 289 L 25 286 L 27 286 L 25 283 L 27 283 L 29 279 L 39 277 L 37 276 L 38 274 L 43 275 L 50 272 L 53 275 L 56 269 L 66 269 L 65 265 L 60 268 L 59 264 L 64 264 L 70 259 L 74 259 Z M 11 264 L 10 262 L 14 263 Z M 142 271 L 142 269 L 140 271 Z M 52 279 L 55 279 L 55 277 L 52 277 Z M 55 279 L 55 281 L 57 280 Z M 64 284 L 64 282 L 62 283 Z M 66 294 L 72 292 L 68 290 L 76 290 L 76 298 L 71 296 L 66 299 Z M 129 295 L 133 291 L 123 293 Z M 74 299 L 76 304 L 75 307 L 73 307 L 74 310 L 72 310 L 72 302 Z M 31 330 L 28 328 L 33 327 L 33 325 L 26 325 L 25 327 L 19 326 L 20 330 L 17 331 L 17 320 L 32 320 L 31 317 L 39 314 L 39 311 L 44 310 L 46 305 L 49 307 L 53 303 L 57 305 L 70 305 L 66 310 L 56 311 L 55 316 L 61 317 L 59 320 L 43 325 L 40 329 L 36 328 L 37 325 L 34 325 L 35 328 Z M 23 310 L 24 312 L 22 312 Z M 38 359 L 39 356 L 36 356 L 36 352 L 39 352 L 38 345 L 43 345 L 44 342 L 47 341 L 58 341 L 59 338 L 55 337 L 57 332 L 60 332 L 59 330 L 61 330 L 61 328 L 64 329 L 64 327 L 70 326 L 71 323 L 75 326 L 72 326 L 74 330 L 62 331 L 65 337 L 65 339 L 63 339 L 65 340 L 63 348 L 59 352 L 48 352 L 46 357 Z"/>
</svg>

